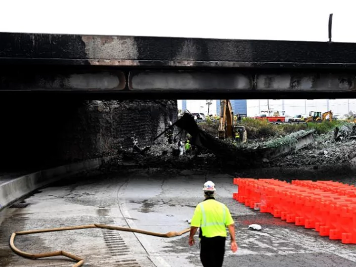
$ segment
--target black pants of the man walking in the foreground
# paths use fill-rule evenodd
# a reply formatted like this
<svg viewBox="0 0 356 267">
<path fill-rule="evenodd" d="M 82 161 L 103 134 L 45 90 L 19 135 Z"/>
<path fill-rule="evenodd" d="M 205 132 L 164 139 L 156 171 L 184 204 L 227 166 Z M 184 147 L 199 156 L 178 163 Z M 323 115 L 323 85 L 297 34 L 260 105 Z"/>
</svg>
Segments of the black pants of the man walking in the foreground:
<svg viewBox="0 0 356 267">
<path fill-rule="evenodd" d="M 223 236 L 202 237 L 200 241 L 200 261 L 203 267 L 222 267 L 225 255 L 225 241 Z"/>
</svg>

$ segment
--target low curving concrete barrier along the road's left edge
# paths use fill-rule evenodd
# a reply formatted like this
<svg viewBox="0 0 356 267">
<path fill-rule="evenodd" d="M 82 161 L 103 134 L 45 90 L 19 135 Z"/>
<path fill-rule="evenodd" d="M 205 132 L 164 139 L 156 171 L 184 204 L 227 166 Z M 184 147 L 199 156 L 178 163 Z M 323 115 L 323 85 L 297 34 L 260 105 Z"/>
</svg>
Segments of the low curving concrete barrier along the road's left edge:
<svg viewBox="0 0 356 267">
<path fill-rule="evenodd" d="M 96 158 L 14 178 L 0 184 L 0 210 L 19 198 L 61 178 L 98 169 L 110 157 Z"/>
</svg>

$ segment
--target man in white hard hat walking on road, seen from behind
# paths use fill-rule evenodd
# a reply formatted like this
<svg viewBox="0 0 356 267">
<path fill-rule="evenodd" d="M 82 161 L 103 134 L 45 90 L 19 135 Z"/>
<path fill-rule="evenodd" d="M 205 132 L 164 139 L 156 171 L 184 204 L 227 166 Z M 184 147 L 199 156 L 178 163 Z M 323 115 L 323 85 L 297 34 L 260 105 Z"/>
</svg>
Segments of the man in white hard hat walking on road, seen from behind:
<svg viewBox="0 0 356 267">
<path fill-rule="evenodd" d="M 229 209 L 215 200 L 215 184 L 204 183 L 205 200 L 199 203 L 190 223 L 189 245 L 193 246 L 194 234 L 199 229 L 200 261 L 203 267 L 222 267 L 225 255 L 226 227 L 231 237 L 231 251 L 237 251 L 235 224 Z"/>
</svg>

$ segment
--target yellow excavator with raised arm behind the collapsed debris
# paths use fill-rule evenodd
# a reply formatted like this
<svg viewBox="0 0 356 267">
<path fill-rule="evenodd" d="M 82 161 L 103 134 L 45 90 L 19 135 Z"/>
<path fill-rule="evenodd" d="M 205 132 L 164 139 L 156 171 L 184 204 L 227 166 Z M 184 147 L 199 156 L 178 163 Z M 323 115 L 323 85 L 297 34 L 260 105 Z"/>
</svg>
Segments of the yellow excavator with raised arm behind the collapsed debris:
<svg viewBox="0 0 356 267">
<path fill-rule="evenodd" d="M 220 120 L 218 136 L 220 139 L 235 138 L 235 133 L 239 132 L 240 141 L 247 141 L 247 132 L 244 126 L 237 126 L 234 124 L 233 112 L 230 100 L 220 100 Z"/>
</svg>

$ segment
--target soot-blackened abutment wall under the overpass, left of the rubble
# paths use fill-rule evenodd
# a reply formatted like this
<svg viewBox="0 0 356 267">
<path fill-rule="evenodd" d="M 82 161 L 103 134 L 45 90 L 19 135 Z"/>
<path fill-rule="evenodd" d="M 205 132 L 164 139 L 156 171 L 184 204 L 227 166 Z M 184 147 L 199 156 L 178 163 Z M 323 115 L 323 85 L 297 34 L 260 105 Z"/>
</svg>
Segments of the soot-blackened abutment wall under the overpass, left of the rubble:
<svg viewBox="0 0 356 267">
<path fill-rule="evenodd" d="M 38 169 L 130 149 L 177 120 L 176 100 L 2 99 L 2 170 Z M 166 142 L 167 136 L 160 138 Z"/>
</svg>

